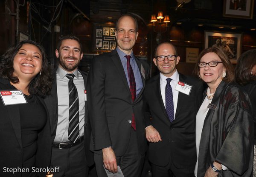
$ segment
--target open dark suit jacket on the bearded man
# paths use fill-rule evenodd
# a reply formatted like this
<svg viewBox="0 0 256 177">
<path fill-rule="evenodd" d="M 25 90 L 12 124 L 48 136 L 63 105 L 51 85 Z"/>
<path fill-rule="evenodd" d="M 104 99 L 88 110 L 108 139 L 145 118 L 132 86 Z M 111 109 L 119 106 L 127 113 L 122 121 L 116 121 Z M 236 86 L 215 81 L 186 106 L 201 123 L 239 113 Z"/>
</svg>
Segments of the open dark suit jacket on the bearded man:
<svg viewBox="0 0 256 177">
<path fill-rule="evenodd" d="M 50 117 L 50 125 L 51 125 L 51 132 L 52 132 L 52 142 L 54 141 L 56 135 L 56 129 L 58 124 L 58 94 L 57 94 L 57 80 L 56 80 L 56 72 L 57 69 L 53 70 L 53 82 L 52 82 L 52 92 L 50 96 L 47 96 L 44 101 L 47 104 L 47 109 L 49 111 Z M 84 78 L 84 88 L 86 90 L 86 82 L 87 82 L 87 73 L 79 70 Z M 87 101 L 85 101 L 85 112 L 84 112 L 84 150 L 85 150 L 85 157 L 87 161 L 87 165 L 93 165 L 93 153 L 90 152 L 90 134 L 91 128 L 88 118 L 87 112 Z"/>
</svg>

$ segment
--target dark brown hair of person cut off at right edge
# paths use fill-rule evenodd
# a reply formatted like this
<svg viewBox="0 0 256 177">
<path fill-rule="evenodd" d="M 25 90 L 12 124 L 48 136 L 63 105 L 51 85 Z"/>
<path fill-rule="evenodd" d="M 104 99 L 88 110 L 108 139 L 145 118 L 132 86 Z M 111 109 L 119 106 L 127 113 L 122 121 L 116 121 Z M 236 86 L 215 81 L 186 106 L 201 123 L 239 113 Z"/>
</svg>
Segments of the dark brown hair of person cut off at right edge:
<svg viewBox="0 0 256 177">
<path fill-rule="evenodd" d="M 246 85 L 251 81 L 256 81 L 256 76 L 251 74 L 251 70 L 256 65 L 256 49 L 252 49 L 241 54 L 237 60 L 235 76 L 236 82 Z"/>
</svg>

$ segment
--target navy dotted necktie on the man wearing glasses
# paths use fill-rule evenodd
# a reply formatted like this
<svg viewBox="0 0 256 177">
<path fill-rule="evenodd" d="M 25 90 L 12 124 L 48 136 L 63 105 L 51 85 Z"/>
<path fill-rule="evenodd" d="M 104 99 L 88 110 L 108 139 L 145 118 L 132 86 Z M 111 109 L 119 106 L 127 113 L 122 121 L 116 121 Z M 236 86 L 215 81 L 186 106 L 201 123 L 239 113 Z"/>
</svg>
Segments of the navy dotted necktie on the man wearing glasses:
<svg viewBox="0 0 256 177">
<path fill-rule="evenodd" d="M 172 96 L 172 87 L 170 82 L 172 79 L 166 79 L 166 112 L 170 121 L 174 121 L 174 106 L 173 106 L 173 96 Z"/>
</svg>

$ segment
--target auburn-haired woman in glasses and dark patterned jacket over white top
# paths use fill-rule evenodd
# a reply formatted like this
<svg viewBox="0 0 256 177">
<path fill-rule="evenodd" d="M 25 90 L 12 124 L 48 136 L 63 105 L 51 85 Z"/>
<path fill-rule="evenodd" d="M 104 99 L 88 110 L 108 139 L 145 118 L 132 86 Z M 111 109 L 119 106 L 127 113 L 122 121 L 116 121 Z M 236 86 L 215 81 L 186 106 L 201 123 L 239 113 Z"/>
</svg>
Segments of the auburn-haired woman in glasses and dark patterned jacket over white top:
<svg viewBox="0 0 256 177">
<path fill-rule="evenodd" d="M 196 115 L 196 177 L 251 177 L 250 99 L 233 83 L 233 66 L 219 48 L 207 48 L 194 70 L 208 88 Z"/>
</svg>

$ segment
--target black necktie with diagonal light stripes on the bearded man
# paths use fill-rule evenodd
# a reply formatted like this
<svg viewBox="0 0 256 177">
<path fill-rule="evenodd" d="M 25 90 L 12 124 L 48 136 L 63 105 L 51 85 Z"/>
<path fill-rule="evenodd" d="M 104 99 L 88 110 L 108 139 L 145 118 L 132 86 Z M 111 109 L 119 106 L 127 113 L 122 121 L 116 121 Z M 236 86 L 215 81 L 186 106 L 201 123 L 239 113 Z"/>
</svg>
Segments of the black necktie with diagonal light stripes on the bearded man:
<svg viewBox="0 0 256 177">
<path fill-rule="evenodd" d="M 76 86 L 73 82 L 74 74 L 67 74 L 68 81 L 68 100 L 69 100 L 69 121 L 68 121 L 68 139 L 76 143 L 79 138 L 79 99 Z"/>
</svg>

